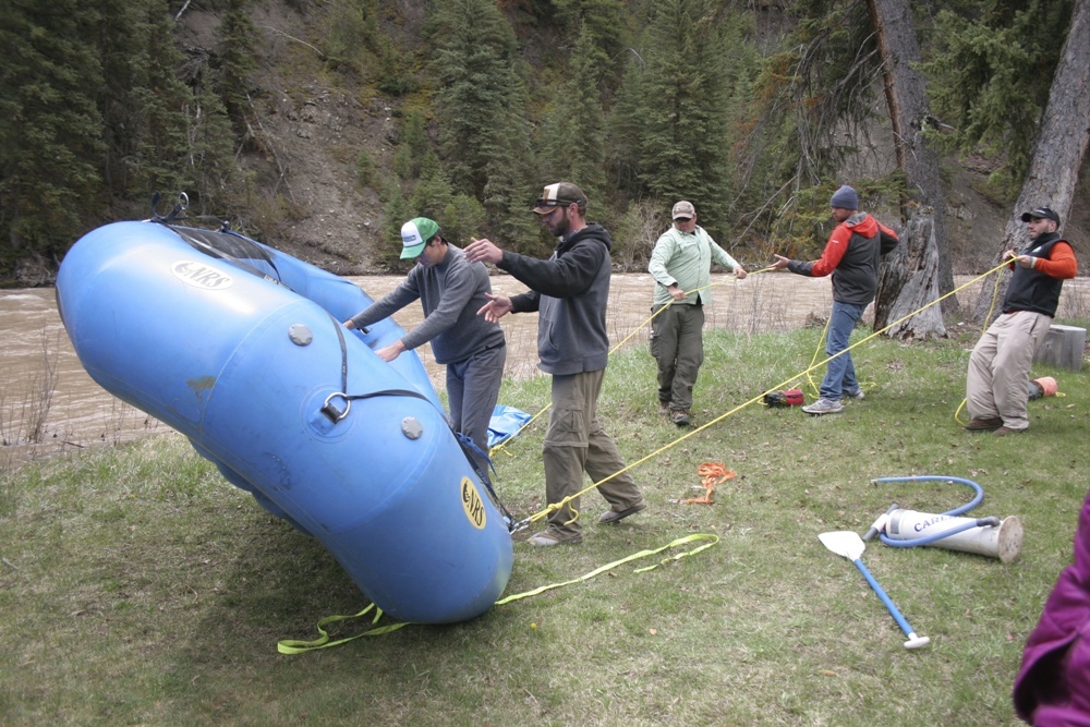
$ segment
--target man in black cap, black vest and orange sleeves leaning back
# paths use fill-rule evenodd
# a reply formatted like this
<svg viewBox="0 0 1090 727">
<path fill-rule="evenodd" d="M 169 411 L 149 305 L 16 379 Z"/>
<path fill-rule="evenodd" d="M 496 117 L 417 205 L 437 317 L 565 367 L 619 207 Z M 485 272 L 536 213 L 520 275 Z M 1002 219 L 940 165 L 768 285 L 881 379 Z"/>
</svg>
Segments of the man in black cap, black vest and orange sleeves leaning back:
<svg viewBox="0 0 1090 727">
<path fill-rule="evenodd" d="M 1003 313 L 973 347 L 965 384 L 972 417 L 965 428 L 1001 437 L 1029 427 L 1026 402 L 1033 354 L 1056 315 L 1064 280 L 1078 272 L 1075 251 L 1056 232 L 1059 215 L 1038 207 L 1021 219 L 1029 223 L 1030 244 L 1020 253 L 1004 253 L 1014 274 Z"/>
</svg>

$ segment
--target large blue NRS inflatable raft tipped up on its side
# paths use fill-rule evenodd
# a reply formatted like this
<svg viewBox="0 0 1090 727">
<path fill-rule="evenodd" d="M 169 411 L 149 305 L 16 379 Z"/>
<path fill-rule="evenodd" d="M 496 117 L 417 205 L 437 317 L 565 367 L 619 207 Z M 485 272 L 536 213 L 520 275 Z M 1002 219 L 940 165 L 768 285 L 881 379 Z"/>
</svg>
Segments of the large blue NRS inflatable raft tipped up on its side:
<svg viewBox="0 0 1090 727">
<path fill-rule="evenodd" d="M 229 231 L 116 222 L 57 277 L 98 384 L 190 438 L 233 485 L 318 538 L 395 618 L 473 618 L 507 586 L 507 523 L 403 330 L 341 326 L 359 287 Z"/>
</svg>

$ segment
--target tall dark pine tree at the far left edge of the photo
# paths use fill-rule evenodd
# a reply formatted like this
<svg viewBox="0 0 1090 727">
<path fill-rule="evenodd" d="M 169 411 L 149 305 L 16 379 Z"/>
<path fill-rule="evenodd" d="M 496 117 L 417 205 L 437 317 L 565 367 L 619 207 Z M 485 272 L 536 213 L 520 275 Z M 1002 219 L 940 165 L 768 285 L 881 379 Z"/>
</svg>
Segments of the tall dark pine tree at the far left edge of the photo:
<svg viewBox="0 0 1090 727">
<path fill-rule="evenodd" d="M 0 265 L 59 260 L 102 209 L 101 64 L 73 0 L 0 7 Z"/>
</svg>

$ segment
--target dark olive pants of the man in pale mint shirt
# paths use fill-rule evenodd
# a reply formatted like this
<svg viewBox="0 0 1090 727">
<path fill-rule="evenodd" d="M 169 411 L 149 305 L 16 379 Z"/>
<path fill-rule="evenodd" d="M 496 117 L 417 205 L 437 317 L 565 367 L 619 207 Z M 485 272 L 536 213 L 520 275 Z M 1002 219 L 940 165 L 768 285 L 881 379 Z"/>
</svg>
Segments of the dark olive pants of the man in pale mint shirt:
<svg viewBox="0 0 1090 727">
<path fill-rule="evenodd" d="M 663 306 L 655 306 L 655 312 Z M 658 362 L 658 400 L 692 409 L 692 387 L 704 363 L 704 307 L 674 303 L 651 322 L 651 355 Z"/>
</svg>

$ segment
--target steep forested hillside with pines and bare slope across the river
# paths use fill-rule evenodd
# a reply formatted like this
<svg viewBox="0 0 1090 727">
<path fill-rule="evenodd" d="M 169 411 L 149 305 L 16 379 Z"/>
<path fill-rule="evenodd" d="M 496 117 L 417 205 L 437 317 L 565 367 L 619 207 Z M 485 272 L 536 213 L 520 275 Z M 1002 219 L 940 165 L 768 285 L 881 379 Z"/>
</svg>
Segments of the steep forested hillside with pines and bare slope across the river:
<svg viewBox="0 0 1090 727">
<path fill-rule="evenodd" d="M 913 3 L 955 250 L 1002 229 L 1047 101 L 1038 84 L 993 118 L 994 97 L 959 88 L 1049 77 L 1044 40 L 1075 1 L 1032 27 L 1016 0 L 965 0 L 945 24 Z M 893 217 L 906 190 L 869 23 L 850 0 L 14 0 L 0 280 L 48 282 L 80 234 L 147 217 L 156 191 L 160 211 L 185 192 L 192 214 L 346 274 L 397 267 L 417 215 L 545 253 L 526 208 L 558 179 L 589 193 L 621 266 L 682 197 L 737 256 L 812 254 L 838 184 Z M 1025 53 L 973 50 L 1003 23 Z M 967 52 L 980 77 L 944 72 Z"/>
</svg>

